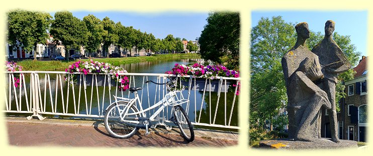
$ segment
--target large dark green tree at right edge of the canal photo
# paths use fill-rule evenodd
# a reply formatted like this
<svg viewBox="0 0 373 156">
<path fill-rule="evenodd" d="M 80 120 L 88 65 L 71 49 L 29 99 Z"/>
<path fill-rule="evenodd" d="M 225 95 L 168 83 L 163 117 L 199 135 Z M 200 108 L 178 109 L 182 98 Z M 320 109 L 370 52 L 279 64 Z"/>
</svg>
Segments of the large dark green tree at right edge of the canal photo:
<svg viewBox="0 0 373 156">
<path fill-rule="evenodd" d="M 239 38 L 239 13 L 209 13 L 207 25 L 199 38 L 200 55 L 203 59 L 225 63 L 229 68 L 237 68 Z"/>
</svg>

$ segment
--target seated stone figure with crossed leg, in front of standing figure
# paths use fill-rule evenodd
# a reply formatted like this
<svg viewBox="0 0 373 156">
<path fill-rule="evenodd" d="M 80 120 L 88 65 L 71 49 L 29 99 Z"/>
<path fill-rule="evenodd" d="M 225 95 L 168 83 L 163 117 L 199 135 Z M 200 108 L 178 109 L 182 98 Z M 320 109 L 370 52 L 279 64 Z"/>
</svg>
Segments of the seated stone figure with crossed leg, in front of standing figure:
<svg viewBox="0 0 373 156">
<path fill-rule="evenodd" d="M 330 108 L 325 91 L 313 81 L 323 78 L 318 56 L 308 50 L 306 40 L 310 37 L 307 23 L 296 27 L 297 43 L 282 59 L 288 94 L 289 138 L 315 141 L 320 126 L 317 125 L 321 106 Z"/>
</svg>

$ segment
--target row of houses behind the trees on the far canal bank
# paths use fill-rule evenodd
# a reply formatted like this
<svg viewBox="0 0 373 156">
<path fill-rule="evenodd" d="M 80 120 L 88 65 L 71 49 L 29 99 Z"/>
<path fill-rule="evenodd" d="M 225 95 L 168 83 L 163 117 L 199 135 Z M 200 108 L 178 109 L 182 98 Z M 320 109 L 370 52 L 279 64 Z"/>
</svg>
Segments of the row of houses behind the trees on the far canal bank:
<svg viewBox="0 0 373 156">
<path fill-rule="evenodd" d="M 38 58 L 48 58 L 52 55 L 61 55 L 63 57 L 66 57 L 66 56 L 69 57 L 74 54 L 80 54 L 80 55 L 89 57 L 88 56 L 89 53 L 84 49 L 84 47 L 80 47 L 79 49 L 69 49 L 66 52 L 63 43 L 60 42 L 56 44 L 51 41 L 53 41 L 53 37 L 49 35 L 49 39 L 46 40 L 46 44 L 37 45 L 36 53 L 34 53 L 34 50 L 31 52 L 25 51 L 24 49 L 22 49 L 21 45 L 12 46 L 6 43 L 6 47 L 7 47 L 6 54 L 8 58 L 15 58 L 15 59 L 16 58 L 20 58 L 20 59 L 33 58 L 34 55 L 36 55 L 36 57 Z M 197 44 L 199 47 L 198 41 L 193 41 L 193 43 Z M 188 44 L 188 42 L 186 42 L 186 44 Z M 199 52 L 199 50 L 194 51 L 194 52 L 189 52 L 189 50 L 186 49 L 186 44 L 184 43 L 185 53 L 198 53 Z M 121 56 L 135 56 L 136 54 L 138 54 L 138 56 L 145 56 L 146 53 L 152 53 L 151 51 L 147 51 L 145 49 L 137 50 L 137 52 L 135 52 L 136 47 L 132 47 L 131 53 L 130 53 L 129 50 L 118 48 L 117 46 L 113 44 L 108 47 L 107 51 L 103 51 L 103 46 L 104 45 L 101 44 L 100 48 L 96 52 L 91 53 L 90 55 L 92 57 L 107 57 L 109 54 L 118 53 Z"/>
</svg>

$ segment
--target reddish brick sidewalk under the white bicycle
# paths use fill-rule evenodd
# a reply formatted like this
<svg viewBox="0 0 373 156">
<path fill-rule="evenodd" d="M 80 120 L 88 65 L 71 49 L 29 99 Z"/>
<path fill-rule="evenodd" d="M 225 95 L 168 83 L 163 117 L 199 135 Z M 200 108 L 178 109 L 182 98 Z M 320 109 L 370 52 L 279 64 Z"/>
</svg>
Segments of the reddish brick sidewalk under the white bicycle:
<svg viewBox="0 0 373 156">
<path fill-rule="evenodd" d="M 144 135 L 140 130 L 128 139 L 111 137 L 102 121 L 97 120 L 66 120 L 31 119 L 24 117 L 6 117 L 8 125 L 9 143 L 16 146 L 188 146 L 188 147 L 223 147 L 237 145 L 238 133 L 226 131 L 208 131 L 195 129 L 196 138 L 193 142 L 185 141 L 172 128 L 151 130 L 151 134 Z"/>
</svg>

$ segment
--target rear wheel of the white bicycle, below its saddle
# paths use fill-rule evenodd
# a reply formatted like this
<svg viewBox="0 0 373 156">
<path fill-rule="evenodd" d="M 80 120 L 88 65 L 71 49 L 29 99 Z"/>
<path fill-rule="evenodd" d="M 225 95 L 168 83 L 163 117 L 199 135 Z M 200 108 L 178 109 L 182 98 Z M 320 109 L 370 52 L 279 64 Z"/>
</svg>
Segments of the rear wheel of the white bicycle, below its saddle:
<svg viewBox="0 0 373 156">
<path fill-rule="evenodd" d="M 128 103 L 120 101 L 117 104 L 110 106 L 108 111 L 105 114 L 104 124 L 106 130 L 109 132 L 110 135 L 116 138 L 130 138 L 132 137 L 139 128 L 134 127 L 128 123 L 135 123 L 139 120 L 135 119 L 139 117 L 139 114 L 135 115 L 127 115 L 125 117 L 126 121 L 121 121 L 121 115 L 124 113 L 122 112 L 124 109 L 127 109 Z M 121 113 L 123 114 L 121 114 Z M 128 110 L 128 113 L 138 112 L 137 108 L 132 105 L 131 108 Z"/>
</svg>

